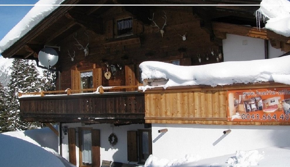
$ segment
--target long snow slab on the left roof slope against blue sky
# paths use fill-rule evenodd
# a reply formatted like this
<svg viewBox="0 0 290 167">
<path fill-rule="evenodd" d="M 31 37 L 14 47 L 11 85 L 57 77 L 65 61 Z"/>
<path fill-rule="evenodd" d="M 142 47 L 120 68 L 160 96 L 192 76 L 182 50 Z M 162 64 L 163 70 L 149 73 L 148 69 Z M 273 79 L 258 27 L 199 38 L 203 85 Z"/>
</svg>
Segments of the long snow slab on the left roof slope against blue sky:
<svg viewBox="0 0 290 167">
<path fill-rule="evenodd" d="M 35 6 L 0 41 L 0 53 L 11 47 L 35 25 L 54 11 L 64 0 L 39 0 Z"/>
</svg>

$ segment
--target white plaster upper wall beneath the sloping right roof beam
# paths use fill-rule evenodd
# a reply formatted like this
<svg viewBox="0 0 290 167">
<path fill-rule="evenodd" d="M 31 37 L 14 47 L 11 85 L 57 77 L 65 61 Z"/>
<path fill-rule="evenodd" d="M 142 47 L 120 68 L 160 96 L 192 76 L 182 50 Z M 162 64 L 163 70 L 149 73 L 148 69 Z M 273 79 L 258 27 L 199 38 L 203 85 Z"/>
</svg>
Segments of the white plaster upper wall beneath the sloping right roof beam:
<svg viewBox="0 0 290 167">
<path fill-rule="evenodd" d="M 243 45 L 243 40 L 247 45 Z M 275 49 L 269 43 L 269 58 L 281 56 L 285 52 Z M 240 35 L 226 34 L 223 40 L 224 62 L 265 59 L 265 43 L 263 39 Z"/>
</svg>

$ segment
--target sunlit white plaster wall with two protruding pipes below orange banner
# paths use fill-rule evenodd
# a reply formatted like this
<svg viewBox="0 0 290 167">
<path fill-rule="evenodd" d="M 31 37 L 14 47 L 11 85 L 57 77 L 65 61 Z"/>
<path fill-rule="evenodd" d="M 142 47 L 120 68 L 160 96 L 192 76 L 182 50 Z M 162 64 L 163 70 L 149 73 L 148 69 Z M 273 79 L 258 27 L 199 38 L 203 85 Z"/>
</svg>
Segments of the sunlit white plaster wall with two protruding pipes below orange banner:
<svg viewBox="0 0 290 167">
<path fill-rule="evenodd" d="M 167 128 L 168 132 L 158 133 Z M 228 135 L 223 131 L 231 129 Z M 210 158 L 269 146 L 290 145 L 289 126 L 152 124 L 152 153 L 158 159 L 186 154 Z"/>
</svg>

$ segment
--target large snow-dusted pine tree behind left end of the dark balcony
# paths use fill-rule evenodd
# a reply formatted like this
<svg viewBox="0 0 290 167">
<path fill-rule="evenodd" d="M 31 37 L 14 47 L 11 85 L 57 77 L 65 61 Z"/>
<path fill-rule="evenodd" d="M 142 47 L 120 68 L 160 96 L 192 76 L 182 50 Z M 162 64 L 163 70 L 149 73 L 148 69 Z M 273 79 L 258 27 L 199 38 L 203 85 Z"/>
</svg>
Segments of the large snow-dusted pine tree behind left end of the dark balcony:
<svg viewBox="0 0 290 167">
<path fill-rule="evenodd" d="M 35 129 L 41 126 L 36 122 L 22 122 L 20 120 L 20 105 L 18 92 L 34 92 L 40 90 L 39 73 L 35 65 L 28 60 L 14 59 L 9 83 L 8 129 L 9 131 Z"/>
</svg>

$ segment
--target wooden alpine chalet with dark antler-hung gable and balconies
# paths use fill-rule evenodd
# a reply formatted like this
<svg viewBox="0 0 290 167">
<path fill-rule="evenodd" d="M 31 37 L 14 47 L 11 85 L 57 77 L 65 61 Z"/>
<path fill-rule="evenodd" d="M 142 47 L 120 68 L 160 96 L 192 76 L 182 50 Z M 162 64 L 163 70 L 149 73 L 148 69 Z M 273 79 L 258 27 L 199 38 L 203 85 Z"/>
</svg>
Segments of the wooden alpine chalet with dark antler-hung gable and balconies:
<svg viewBox="0 0 290 167">
<path fill-rule="evenodd" d="M 59 6 L 2 52 L 3 57 L 38 62 L 38 53 L 44 47 L 60 48 L 59 59 L 54 66 L 57 71 L 57 91 L 42 91 L 34 93 L 38 94 L 35 96 L 22 94 L 19 98 L 21 118 L 28 122 L 61 123 L 60 145 L 68 144 L 69 156 L 66 157 L 68 153 L 65 153 L 66 149 L 62 145 L 59 152 L 77 166 L 100 166 L 103 160 L 115 161 L 102 156 L 102 151 L 100 153 L 102 147 L 105 147 L 105 151 L 109 147 L 108 144 L 100 144 L 99 138 L 103 135 L 108 140 L 110 134 L 103 133 L 103 124 L 108 124 L 108 127 L 103 127 L 107 129 L 106 132 L 111 130 L 112 124 L 128 127 L 141 125 L 135 130 L 131 127 L 127 129 L 127 137 L 124 139 L 127 140 L 125 143 L 128 149 L 124 152 L 127 155 L 122 160 L 117 159 L 122 163 L 144 163 L 147 154 L 152 154 L 151 123 L 289 125 L 289 122 L 231 122 L 227 116 L 227 91 L 286 88 L 289 85 L 253 83 L 138 91 L 138 86 L 143 84 L 139 71 L 141 62 L 162 61 L 183 66 L 223 62 L 224 57 L 218 59 L 210 53 L 213 50 L 216 55 L 219 52 L 223 54 L 223 40 L 227 38 L 227 34 L 264 40 L 265 59 L 269 58 L 269 47 L 289 52 L 290 38 L 257 28 L 254 13 L 260 2 L 65 0 L 62 3 L 64 6 Z M 66 6 L 67 4 L 71 6 Z M 82 4 L 91 5 L 77 6 Z M 129 4 L 137 6 L 128 6 Z M 195 4 L 214 5 L 191 6 Z M 229 4 L 233 6 L 221 6 Z M 236 4 L 257 6 L 234 6 Z M 161 34 L 160 31 L 163 30 L 164 34 Z M 84 52 L 86 47 L 87 55 Z M 97 88 L 101 93 L 95 93 Z M 92 127 L 89 126 L 94 127 L 90 129 Z M 68 138 L 63 134 L 62 127 L 68 128 Z M 93 136 L 98 136 L 99 140 L 93 140 L 95 160 L 86 164 L 81 163 L 82 149 L 76 148 L 81 147 L 78 141 L 82 140 L 82 130 L 87 129 L 91 130 Z M 138 152 L 138 143 L 141 143 L 137 142 L 139 132 L 148 132 L 150 136 L 148 140 L 151 147 L 146 154 Z M 118 141 L 121 142 L 121 139 Z M 133 152 L 128 151 L 129 149 Z"/>
</svg>

